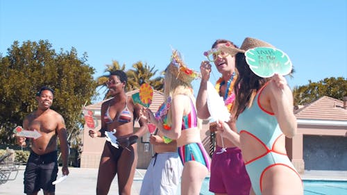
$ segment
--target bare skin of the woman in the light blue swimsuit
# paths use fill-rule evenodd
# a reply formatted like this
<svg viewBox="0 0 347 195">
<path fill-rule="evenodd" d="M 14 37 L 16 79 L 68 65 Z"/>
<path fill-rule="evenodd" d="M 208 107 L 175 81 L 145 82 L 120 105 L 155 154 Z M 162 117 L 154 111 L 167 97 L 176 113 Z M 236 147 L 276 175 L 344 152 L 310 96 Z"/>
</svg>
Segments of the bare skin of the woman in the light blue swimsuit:
<svg viewBox="0 0 347 195">
<path fill-rule="evenodd" d="M 273 151 L 287 153 L 285 137 L 293 137 L 297 131 L 296 117 L 293 112 L 292 93 L 283 76 L 275 74 L 264 87 L 259 103 L 267 112 L 274 113 L 283 135 L 280 136 Z M 234 139 L 234 131 L 223 122 L 219 123 L 218 130 L 228 139 Z M 239 136 L 244 161 L 248 162 L 266 153 L 264 146 L 247 133 Z M 283 181 L 283 182 L 281 182 Z M 290 181 L 291 185 L 287 185 Z M 262 180 L 262 194 L 303 194 L 303 183 L 295 171 L 284 166 L 274 166 L 266 170 Z"/>
</svg>

